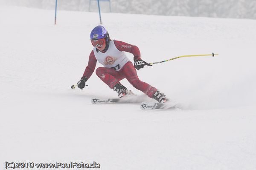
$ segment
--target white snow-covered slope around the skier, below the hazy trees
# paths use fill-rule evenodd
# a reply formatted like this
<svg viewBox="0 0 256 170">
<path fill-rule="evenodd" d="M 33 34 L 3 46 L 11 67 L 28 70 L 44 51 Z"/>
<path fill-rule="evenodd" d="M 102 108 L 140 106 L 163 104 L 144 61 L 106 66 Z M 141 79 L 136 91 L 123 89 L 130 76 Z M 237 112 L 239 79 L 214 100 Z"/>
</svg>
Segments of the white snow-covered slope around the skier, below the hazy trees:
<svg viewBox="0 0 256 170">
<path fill-rule="evenodd" d="M 255 170 L 256 20 L 104 16 L 111 39 L 138 46 L 148 63 L 219 55 L 137 71 L 180 109 L 93 105 L 93 96 L 117 96 L 95 72 L 83 90 L 70 87 L 87 66 L 99 14 L 58 11 L 54 25 L 53 10 L 2 6 L 0 169 L 5 161 L 96 161 L 103 170 Z"/>
</svg>

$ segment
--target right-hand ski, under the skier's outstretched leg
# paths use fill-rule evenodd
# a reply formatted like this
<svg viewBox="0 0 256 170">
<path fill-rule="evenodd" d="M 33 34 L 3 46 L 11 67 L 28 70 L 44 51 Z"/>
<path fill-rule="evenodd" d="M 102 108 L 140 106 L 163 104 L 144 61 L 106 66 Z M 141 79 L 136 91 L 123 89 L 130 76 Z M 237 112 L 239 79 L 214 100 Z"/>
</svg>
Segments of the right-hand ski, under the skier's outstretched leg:
<svg viewBox="0 0 256 170">
<path fill-rule="evenodd" d="M 171 109 L 171 108 L 175 109 L 176 107 L 169 103 L 152 103 L 152 102 L 148 102 L 148 101 L 143 101 L 140 104 L 140 109 L 142 109 L 142 110 Z"/>
</svg>

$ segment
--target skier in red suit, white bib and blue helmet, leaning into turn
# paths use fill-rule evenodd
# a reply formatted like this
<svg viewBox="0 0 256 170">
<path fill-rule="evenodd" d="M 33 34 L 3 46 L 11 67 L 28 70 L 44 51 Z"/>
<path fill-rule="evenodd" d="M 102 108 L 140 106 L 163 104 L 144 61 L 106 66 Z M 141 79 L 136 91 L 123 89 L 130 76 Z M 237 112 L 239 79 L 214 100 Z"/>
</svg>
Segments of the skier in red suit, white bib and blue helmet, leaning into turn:
<svg viewBox="0 0 256 170">
<path fill-rule="evenodd" d="M 133 94 L 119 82 L 126 78 L 136 89 L 144 92 L 148 97 L 154 98 L 159 103 L 164 103 L 168 100 L 162 92 L 140 81 L 138 78 L 136 69 L 140 70 L 144 65 L 152 65 L 140 58 L 140 50 L 137 46 L 118 40 L 111 40 L 103 26 L 96 26 L 92 30 L 90 40 L 94 48 L 90 53 L 88 66 L 81 80 L 77 83 L 80 89 L 84 88 L 85 82 L 94 72 L 96 62 L 99 61 L 104 67 L 97 68 L 96 75 L 111 89 L 116 91 L 119 98 Z M 129 61 L 125 52 L 130 52 L 134 55 L 134 65 Z"/>
</svg>

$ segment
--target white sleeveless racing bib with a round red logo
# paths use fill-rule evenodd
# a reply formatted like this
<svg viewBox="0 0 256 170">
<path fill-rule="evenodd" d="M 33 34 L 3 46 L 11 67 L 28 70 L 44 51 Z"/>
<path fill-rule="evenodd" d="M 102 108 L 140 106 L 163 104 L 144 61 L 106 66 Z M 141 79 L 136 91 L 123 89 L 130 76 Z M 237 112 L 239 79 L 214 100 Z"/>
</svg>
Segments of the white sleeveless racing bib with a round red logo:
<svg viewBox="0 0 256 170">
<path fill-rule="evenodd" d="M 99 61 L 99 63 L 101 63 L 104 67 L 108 67 L 116 71 L 122 69 L 122 67 L 128 61 L 130 61 L 125 55 L 125 52 L 120 52 L 116 48 L 113 40 L 110 41 L 108 50 L 105 53 L 100 51 L 97 52 L 96 47 L 93 48 L 93 52 L 96 60 Z"/>
</svg>

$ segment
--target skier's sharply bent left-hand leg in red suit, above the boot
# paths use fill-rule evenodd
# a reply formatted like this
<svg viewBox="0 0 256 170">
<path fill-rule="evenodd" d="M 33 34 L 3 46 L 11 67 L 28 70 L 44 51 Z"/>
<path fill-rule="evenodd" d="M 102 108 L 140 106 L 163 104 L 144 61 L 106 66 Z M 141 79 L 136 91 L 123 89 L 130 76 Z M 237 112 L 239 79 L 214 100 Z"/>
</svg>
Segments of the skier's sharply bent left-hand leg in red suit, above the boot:
<svg viewBox="0 0 256 170">
<path fill-rule="evenodd" d="M 124 77 L 116 72 L 114 69 L 99 67 L 96 69 L 96 75 L 111 89 L 114 88 L 116 84 L 119 83 Z"/>
</svg>

